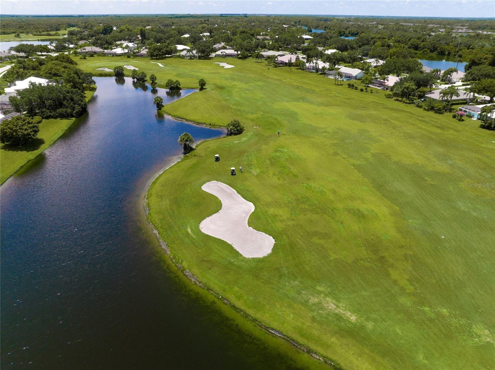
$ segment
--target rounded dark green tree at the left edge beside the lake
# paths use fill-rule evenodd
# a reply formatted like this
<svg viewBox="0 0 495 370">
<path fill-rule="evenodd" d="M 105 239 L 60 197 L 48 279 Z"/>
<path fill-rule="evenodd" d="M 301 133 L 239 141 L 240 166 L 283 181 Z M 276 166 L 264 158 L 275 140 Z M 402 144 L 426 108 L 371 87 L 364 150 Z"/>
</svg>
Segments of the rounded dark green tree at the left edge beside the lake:
<svg viewBox="0 0 495 370">
<path fill-rule="evenodd" d="M 18 115 L 0 124 L 0 142 L 13 146 L 31 144 L 40 132 L 41 117 L 36 121 L 29 117 Z"/>
</svg>

